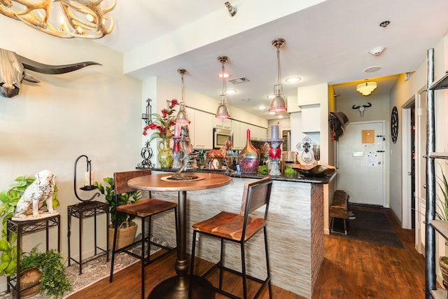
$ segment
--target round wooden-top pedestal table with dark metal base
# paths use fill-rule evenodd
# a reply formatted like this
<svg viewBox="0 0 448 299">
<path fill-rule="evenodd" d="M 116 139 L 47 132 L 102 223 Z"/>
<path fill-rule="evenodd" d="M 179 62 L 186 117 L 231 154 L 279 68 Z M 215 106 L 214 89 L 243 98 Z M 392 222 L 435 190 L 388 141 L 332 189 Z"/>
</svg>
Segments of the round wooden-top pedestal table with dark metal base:
<svg viewBox="0 0 448 299">
<path fill-rule="evenodd" d="M 151 174 L 149 176 L 139 176 L 130 179 L 127 185 L 148 191 L 175 191 L 179 192 L 179 238 L 177 244 L 177 258 L 174 263 L 176 276 L 170 277 L 153 288 L 148 299 L 165 299 L 165 298 L 188 298 L 188 288 L 190 277 L 188 268 L 190 267 L 187 256 L 187 191 L 206 190 L 225 186 L 232 178 L 223 174 L 186 172 L 181 173 L 181 179 L 173 179 L 174 174 Z M 183 179 L 182 179 L 183 178 Z M 210 284 L 207 279 L 202 277 L 192 277 L 192 296 L 193 299 L 214 298 L 214 291 L 207 288 Z"/>
</svg>

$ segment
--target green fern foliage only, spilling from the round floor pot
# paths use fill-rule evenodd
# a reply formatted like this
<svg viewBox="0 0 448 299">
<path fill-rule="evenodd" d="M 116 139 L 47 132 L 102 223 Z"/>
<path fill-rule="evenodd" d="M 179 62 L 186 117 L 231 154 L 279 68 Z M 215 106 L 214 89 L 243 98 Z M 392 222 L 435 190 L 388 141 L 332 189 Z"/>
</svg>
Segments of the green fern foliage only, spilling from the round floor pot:
<svg viewBox="0 0 448 299">
<path fill-rule="evenodd" d="M 64 268 L 64 257 L 56 249 L 40 252 L 37 247 L 34 246 L 31 251 L 23 254 L 20 272 L 30 269 L 40 270 L 40 293 L 53 298 L 62 297 L 64 291 L 71 290 Z"/>
</svg>

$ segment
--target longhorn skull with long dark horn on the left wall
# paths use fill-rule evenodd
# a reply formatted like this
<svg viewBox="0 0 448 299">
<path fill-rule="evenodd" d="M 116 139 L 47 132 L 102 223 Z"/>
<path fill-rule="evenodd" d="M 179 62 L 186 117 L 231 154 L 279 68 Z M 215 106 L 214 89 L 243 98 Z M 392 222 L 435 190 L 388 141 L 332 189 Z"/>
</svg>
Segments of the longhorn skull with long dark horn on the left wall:
<svg viewBox="0 0 448 299">
<path fill-rule="evenodd" d="M 22 57 L 15 52 L 0 48 L 0 95 L 2 97 L 15 97 L 18 95 L 22 80 L 32 83 L 41 82 L 31 74 L 25 73 L 25 69 L 37 71 L 41 74 L 56 75 L 76 71 L 94 64 L 101 65 L 97 62 L 78 62 L 63 65 L 42 64 Z"/>
</svg>

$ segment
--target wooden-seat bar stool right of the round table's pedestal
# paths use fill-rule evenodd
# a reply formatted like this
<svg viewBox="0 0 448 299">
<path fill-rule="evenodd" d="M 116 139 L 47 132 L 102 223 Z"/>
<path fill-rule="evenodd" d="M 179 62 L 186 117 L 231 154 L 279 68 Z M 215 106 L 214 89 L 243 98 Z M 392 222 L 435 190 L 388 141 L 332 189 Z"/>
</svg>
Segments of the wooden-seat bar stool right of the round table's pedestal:
<svg viewBox="0 0 448 299">
<path fill-rule="evenodd" d="M 209 235 L 212 237 L 218 237 L 221 239 L 221 258 L 213 265 L 202 277 L 207 277 L 207 275 L 211 274 L 216 268 L 219 269 L 219 288 L 212 286 L 215 291 L 218 293 L 222 293 L 230 298 L 239 298 L 232 293 L 228 293 L 223 290 L 223 270 L 232 272 L 234 274 L 238 274 L 241 276 L 243 281 L 243 297 L 247 298 L 247 279 L 251 279 L 253 281 L 257 281 L 261 284 L 260 288 L 258 288 L 257 293 L 253 298 L 258 298 L 265 287 L 268 285 L 269 288 L 269 298 L 272 298 L 272 287 L 271 287 L 271 277 L 269 272 L 269 255 L 267 251 L 267 235 L 266 235 L 266 218 L 267 211 L 269 209 L 269 199 L 271 196 L 272 189 L 272 179 L 270 176 L 267 176 L 263 179 L 259 179 L 257 181 L 253 181 L 251 183 L 244 184 L 244 193 L 243 199 L 241 202 L 241 209 L 239 214 L 229 213 L 226 211 L 222 211 L 220 214 L 213 216 L 205 221 L 200 223 L 196 223 L 193 225 L 193 247 L 191 251 L 191 277 L 193 277 L 194 273 L 194 265 L 195 265 L 195 247 L 196 247 L 196 235 L 197 232 L 200 232 L 205 235 Z M 265 207 L 265 216 L 264 218 L 259 218 L 255 216 L 250 216 L 249 214 L 253 213 L 253 211 Z M 266 255 L 266 270 L 267 277 L 266 279 L 259 279 L 256 277 L 252 277 L 246 274 L 246 256 L 244 253 L 244 244 L 253 237 L 260 230 L 263 231 L 264 239 L 265 239 L 265 255 Z M 224 241 L 230 241 L 239 243 L 241 247 L 241 272 L 237 270 L 230 269 L 229 267 L 225 267 L 223 265 L 223 257 L 224 257 Z"/>
</svg>

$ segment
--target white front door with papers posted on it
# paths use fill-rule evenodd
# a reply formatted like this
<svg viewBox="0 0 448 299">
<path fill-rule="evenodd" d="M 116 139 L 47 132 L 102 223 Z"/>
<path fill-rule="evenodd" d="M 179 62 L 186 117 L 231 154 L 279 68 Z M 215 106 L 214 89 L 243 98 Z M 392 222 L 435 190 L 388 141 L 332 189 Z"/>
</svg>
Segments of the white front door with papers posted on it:
<svg viewBox="0 0 448 299">
<path fill-rule="evenodd" d="M 337 142 L 337 189 L 349 202 L 384 206 L 384 121 L 346 123 Z"/>
</svg>

